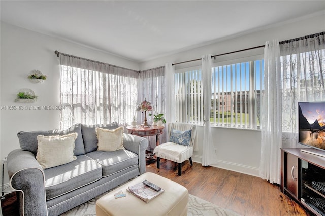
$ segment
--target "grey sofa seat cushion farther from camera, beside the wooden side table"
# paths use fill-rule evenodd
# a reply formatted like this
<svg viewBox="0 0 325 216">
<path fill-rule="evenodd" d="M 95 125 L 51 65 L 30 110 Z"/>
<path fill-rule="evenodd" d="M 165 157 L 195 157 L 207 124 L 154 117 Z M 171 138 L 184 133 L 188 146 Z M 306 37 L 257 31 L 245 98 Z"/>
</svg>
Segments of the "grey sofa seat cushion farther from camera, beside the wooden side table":
<svg viewBox="0 0 325 216">
<path fill-rule="evenodd" d="M 126 149 L 111 151 L 94 151 L 86 156 L 98 162 L 103 168 L 103 177 L 113 175 L 132 166 L 138 166 L 139 157 Z"/>
</svg>

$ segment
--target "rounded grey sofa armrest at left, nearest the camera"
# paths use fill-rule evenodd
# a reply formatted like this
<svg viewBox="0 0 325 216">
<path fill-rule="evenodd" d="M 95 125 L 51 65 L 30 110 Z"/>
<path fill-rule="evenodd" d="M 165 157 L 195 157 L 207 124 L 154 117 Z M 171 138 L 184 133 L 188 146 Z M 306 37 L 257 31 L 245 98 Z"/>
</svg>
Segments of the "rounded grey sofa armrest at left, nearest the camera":
<svg viewBox="0 0 325 216">
<path fill-rule="evenodd" d="M 7 157 L 10 186 L 17 191 L 20 215 L 47 215 L 45 177 L 33 153 L 13 150 Z"/>
</svg>

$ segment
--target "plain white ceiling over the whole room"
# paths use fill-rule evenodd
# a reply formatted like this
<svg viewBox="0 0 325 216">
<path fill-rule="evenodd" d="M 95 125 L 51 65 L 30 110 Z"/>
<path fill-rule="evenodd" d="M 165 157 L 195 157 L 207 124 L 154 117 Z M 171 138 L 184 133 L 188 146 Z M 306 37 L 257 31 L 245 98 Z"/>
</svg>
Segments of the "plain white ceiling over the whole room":
<svg viewBox="0 0 325 216">
<path fill-rule="evenodd" d="M 325 10 L 325 1 L 0 1 L 1 21 L 143 62 Z"/>
</svg>

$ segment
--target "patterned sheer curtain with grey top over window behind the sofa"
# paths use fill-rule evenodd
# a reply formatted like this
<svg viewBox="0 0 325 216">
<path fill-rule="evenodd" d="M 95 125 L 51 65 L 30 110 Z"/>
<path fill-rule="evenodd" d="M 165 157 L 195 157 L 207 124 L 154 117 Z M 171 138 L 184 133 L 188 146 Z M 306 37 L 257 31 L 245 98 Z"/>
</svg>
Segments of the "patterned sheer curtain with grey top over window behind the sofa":
<svg viewBox="0 0 325 216">
<path fill-rule="evenodd" d="M 137 105 L 135 70 L 60 55 L 60 128 L 130 122 Z"/>
</svg>

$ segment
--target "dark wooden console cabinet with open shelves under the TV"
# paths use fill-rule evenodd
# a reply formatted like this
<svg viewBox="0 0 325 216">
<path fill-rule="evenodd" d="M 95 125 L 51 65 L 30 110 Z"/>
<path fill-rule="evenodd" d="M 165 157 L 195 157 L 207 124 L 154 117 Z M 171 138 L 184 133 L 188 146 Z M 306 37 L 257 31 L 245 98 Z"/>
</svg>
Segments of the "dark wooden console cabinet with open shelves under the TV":
<svg viewBox="0 0 325 216">
<path fill-rule="evenodd" d="M 281 192 L 289 194 L 311 213 L 325 215 L 325 157 L 301 150 L 281 149 Z M 321 150 L 312 151 L 325 154 Z"/>
</svg>

